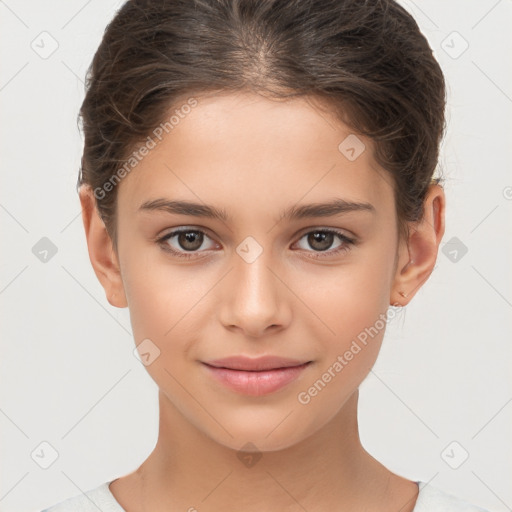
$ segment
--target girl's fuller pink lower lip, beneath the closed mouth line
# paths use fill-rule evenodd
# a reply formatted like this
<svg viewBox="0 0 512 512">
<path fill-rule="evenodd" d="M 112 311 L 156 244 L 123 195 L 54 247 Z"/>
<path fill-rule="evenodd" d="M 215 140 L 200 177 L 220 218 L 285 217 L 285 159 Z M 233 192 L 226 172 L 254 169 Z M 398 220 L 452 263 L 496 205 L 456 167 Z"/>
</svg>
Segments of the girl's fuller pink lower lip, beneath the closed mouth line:
<svg viewBox="0 0 512 512">
<path fill-rule="evenodd" d="M 216 368 L 207 364 L 204 366 L 214 378 L 233 391 L 244 395 L 261 396 L 278 391 L 294 381 L 309 364 L 258 372 Z"/>
</svg>

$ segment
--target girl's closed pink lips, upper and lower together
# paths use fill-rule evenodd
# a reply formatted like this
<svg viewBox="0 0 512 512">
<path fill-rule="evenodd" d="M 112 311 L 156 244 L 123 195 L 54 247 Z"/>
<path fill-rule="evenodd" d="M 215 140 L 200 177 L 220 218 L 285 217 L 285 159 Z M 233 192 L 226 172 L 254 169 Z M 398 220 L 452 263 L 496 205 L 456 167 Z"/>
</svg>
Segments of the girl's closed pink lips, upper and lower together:
<svg viewBox="0 0 512 512">
<path fill-rule="evenodd" d="M 233 391 L 261 396 L 273 393 L 295 380 L 310 362 L 275 356 L 256 359 L 236 356 L 203 364 L 213 377 Z"/>
</svg>

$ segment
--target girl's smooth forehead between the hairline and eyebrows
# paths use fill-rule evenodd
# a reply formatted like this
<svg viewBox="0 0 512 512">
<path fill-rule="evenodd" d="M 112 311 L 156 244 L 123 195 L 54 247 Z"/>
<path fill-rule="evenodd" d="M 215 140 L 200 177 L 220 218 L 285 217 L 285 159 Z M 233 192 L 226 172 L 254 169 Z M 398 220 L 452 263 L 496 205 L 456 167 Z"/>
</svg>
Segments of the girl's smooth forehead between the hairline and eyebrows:
<svg viewBox="0 0 512 512">
<path fill-rule="evenodd" d="M 123 179 L 120 208 L 135 212 L 159 197 L 226 209 L 241 198 L 245 208 L 282 208 L 302 197 L 315 202 L 327 196 L 390 206 L 391 179 L 374 162 L 372 142 L 316 99 L 251 93 L 195 99 L 193 108 L 180 111 L 176 104 L 170 110 L 169 117 L 176 113 L 172 129 L 154 139 L 156 146 Z"/>
</svg>

